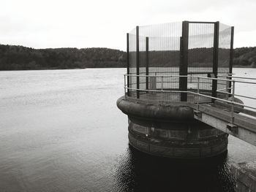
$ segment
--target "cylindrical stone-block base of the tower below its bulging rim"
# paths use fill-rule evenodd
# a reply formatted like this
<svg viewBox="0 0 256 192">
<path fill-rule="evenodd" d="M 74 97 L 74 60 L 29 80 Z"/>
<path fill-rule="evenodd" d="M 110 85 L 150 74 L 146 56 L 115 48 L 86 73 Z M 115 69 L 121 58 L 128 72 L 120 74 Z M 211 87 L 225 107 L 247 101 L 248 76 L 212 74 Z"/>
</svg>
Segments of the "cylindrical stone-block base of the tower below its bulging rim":
<svg viewBox="0 0 256 192">
<path fill-rule="evenodd" d="M 170 128 L 129 123 L 129 144 L 151 155 L 208 158 L 225 153 L 227 134 L 203 123 L 170 123 Z"/>
</svg>

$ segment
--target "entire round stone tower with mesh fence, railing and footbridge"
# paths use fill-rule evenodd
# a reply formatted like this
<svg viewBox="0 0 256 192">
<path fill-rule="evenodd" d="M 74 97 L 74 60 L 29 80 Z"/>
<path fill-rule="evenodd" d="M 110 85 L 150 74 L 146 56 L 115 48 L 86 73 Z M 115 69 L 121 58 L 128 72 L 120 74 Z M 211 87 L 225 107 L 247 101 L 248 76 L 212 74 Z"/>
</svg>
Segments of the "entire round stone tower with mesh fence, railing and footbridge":
<svg viewBox="0 0 256 192">
<path fill-rule="evenodd" d="M 129 144 L 168 158 L 227 152 L 228 135 L 256 145 L 255 100 L 236 86 L 233 26 L 183 21 L 137 26 L 127 34 L 127 74 L 118 108 L 128 115 Z"/>
</svg>

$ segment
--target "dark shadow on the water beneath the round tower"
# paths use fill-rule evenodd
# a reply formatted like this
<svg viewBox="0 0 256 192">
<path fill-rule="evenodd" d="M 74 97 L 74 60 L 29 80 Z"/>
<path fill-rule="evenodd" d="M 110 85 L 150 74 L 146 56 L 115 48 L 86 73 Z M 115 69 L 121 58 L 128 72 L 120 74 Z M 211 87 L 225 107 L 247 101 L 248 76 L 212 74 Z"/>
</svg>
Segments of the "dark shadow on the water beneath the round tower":
<svg viewBox="0 0 256 192">
<path fill-rule="evenodd" d="M 118 161 L 116 191 L 235 191 L 227 153 L 217 158 L 173 160 L 129 146 Z"/>
</svg>

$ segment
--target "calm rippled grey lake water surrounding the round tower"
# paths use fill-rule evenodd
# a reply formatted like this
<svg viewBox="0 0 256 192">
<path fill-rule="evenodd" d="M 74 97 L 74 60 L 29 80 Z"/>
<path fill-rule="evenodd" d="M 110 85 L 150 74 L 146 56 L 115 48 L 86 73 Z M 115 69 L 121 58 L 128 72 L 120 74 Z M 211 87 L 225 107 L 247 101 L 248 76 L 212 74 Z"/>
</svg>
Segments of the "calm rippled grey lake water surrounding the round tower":
<svg viewBox="0 0 256 192">
<path fill-rule="evenodd" d="M 226 157 L 207 162 L 129 147 L 116 107 L 124 72 L 0 72 L 0 191 L 233 191 L 230 164 L 256 159 L 256 147 L 234 137 Z M 234 72 L 256 77 L 256 69 Z"/>
</svg>

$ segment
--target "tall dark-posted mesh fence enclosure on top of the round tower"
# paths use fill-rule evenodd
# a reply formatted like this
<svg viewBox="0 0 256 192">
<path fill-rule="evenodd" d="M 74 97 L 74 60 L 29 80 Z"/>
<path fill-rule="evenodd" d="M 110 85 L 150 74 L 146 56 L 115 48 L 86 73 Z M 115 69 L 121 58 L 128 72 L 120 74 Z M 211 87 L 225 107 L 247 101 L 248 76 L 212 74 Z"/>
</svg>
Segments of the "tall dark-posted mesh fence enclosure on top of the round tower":
<svg viewBox="0 0 256 192">
<path fill-rule="evenodd" d="M 219 22 L 137 26 L 127 34 L 127 94 L 140 99 L 147 96 L 141 90 L 179 91 L 176 97 L 187 101 L 186 91 L 195 90 L 196 75 L 213 78 L 202 78 L 200 91 L 221 96 L 217 90 L 225 89 L 227 82 L 214 78 L 232 73 L 232 54 L 233 27 Z"/>
</svg>

